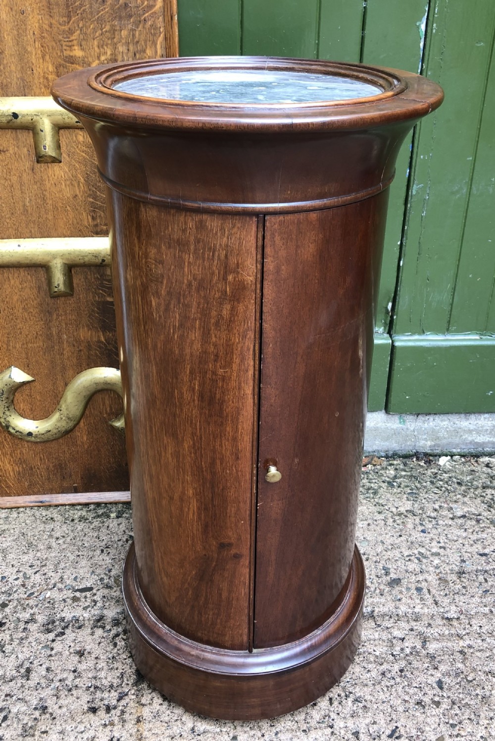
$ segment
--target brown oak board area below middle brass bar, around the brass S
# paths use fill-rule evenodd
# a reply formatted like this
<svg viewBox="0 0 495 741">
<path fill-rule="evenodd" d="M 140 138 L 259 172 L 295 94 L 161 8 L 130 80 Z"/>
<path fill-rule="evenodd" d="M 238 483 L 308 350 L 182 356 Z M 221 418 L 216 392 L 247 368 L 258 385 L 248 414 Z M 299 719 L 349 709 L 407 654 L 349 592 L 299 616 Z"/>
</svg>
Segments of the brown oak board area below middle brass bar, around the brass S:
<svg viewBox="0 0 495 741">
<path fill-rule="evenodd" d="M 74 295 L 50 299 L 43 268 L 2 268 L 0 368 L 36 379 L 16 393 L 30 419 L 51 414 L 73 377 L 98 365 L 118 368 L 108 268 L 73 270 Z M 98 393 L 72 433 L 24 442 L 0 429 L 0 496 L 128 488 L 125 439 L 108 422 L 122 411 L 114 393 Z"/>
</svg>

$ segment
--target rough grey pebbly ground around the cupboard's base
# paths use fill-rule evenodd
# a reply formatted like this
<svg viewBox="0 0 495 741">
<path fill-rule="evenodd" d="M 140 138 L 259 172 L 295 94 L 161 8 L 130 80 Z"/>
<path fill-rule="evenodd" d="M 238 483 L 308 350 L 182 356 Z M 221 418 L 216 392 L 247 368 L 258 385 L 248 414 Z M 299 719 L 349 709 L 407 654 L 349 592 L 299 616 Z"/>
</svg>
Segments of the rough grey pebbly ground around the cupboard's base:
<svg viewBox="0 0 495 741">
<path fill-rule="evenodd" d="M 129 655 L 128 505 L 0 511 L 0 740 L 495 737 L 495 458 L 366 459 L 368 588 L 354 664 L 324 697 L 259 722 L 162 697 Z"/>
</svg>

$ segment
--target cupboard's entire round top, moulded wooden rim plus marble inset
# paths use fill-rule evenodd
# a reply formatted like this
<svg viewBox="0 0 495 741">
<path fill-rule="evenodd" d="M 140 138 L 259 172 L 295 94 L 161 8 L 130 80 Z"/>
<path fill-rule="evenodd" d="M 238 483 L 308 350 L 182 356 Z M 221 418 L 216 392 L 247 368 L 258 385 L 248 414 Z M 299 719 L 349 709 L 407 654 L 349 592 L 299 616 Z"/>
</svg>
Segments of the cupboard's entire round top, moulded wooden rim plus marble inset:
<svg viewBox="0 0 495 741">
<path fill-rule="evenodd" d="M 347 128 L 412 119 L 442 102 L 419 75 L 326 60 L 189 57 L 106 64 L 53 84 L 95 119 L 167 128 Z"/>
</svg>

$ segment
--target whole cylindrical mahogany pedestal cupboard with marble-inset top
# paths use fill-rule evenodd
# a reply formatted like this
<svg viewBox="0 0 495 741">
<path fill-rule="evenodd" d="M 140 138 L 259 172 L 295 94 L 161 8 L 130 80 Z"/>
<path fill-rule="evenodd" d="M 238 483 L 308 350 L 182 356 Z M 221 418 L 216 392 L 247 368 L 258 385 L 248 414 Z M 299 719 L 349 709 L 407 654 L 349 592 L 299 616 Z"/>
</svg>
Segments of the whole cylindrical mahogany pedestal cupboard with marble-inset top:
<svg viewBox="0 0 495 741">
<path fill-rule="evenodd" d="M 442 91 L 295 59 L 55 82 L 107 184 L 135 542 L 132 655 L 218 717 L 271 717 L 360 639 L 354 545 L 388 185 Z"/>
</svg>

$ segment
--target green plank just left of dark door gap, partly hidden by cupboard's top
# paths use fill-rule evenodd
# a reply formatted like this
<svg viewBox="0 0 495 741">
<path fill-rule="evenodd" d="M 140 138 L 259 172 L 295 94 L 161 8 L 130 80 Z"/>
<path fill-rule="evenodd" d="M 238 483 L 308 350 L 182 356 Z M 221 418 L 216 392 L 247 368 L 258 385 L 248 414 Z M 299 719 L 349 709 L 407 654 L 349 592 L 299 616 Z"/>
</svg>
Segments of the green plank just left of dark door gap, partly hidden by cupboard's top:
<svg viewBox="0 0 495 741">
<path fill-rule="evenodd" d="M 426 0 L 368 0 L 363 62 L 420 70 L 427 12 Z M 376 323 L 382 332 L 388 331 L 397 282 L 412 140 L 411 133 L 400 150 L 390 189 Z"/>
</svg>

